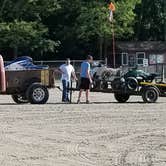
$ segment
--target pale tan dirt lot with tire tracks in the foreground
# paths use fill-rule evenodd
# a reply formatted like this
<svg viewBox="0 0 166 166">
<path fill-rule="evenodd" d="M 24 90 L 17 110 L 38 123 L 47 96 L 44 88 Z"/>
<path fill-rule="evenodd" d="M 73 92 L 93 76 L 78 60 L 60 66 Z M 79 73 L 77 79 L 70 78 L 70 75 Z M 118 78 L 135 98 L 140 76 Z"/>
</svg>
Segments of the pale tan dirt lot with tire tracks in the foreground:
<svg viewBox="0 0 166 166">
<path fill-rule="evenodd" d="M 74 93 L 76 101 L 77 93 Z M 117 104 L 93 93 L 93 104 L 16 105 L 0 96 L 0 166 L 165 166 L 166 99 Z"/>
</svg>

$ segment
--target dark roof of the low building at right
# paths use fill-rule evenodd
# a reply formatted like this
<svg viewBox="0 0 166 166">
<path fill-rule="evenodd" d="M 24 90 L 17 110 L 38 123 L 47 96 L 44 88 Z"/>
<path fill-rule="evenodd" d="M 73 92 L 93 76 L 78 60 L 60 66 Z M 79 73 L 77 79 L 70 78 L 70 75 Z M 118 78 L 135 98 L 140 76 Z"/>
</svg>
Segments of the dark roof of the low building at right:
<svg viewBox="0 0 166 166">
<path fill-rule="evenodd" d="M 144 41 L 144 42 L 116 42 L 116 47 L 123 51 L 166 51 L 166 42 Z"/>
</svg>

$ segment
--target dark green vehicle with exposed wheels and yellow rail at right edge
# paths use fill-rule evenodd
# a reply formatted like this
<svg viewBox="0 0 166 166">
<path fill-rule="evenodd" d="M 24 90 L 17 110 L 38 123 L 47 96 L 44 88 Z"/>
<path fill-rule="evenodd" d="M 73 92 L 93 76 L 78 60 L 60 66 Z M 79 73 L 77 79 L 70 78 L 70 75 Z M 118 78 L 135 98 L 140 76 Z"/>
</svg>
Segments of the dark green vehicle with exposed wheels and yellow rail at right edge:
<svg viewBox="0 0 166 166">
<path fill-rule="evenodd" d="M 166 96 L 166 83 L 157 82 L 158 74 L 132 70 L 111 82 L 112 91 L 118 102 L 126 102 L 131 95 L 140 95 L 144 102 L 156 102 Z"/>
</svg>

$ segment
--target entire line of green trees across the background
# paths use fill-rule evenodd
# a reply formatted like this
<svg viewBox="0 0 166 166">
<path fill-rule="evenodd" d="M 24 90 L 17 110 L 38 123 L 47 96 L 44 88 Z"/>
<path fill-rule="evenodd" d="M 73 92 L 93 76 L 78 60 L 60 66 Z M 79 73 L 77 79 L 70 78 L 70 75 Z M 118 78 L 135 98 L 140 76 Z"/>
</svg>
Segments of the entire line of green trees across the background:
<svg viewBox="0 0 166 166">
<path fill-rule="evenodd" d="M 5 59 L 102 58 L 115 39 L 166 40 L 165 0 L 0 0 L 0 53 Z"/>
</svg>

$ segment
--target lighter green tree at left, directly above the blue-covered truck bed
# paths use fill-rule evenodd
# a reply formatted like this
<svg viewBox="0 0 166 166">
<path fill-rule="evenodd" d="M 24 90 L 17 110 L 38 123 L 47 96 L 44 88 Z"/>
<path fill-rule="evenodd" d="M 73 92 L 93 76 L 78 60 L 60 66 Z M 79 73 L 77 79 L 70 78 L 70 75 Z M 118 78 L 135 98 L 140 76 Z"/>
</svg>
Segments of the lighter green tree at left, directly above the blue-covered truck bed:
<svg viewBox="0 0 166 166">
<path fill-rule="evenodd" d="M 54 51 L 58 43 L 47 39 L 48 29 L 38 22 L 14 21 L 0 23 L 0 43 L 14 51 L 14 57 L 18 55 L 18 49 L 39 50 L 40 52 Z"/>
</svg>

